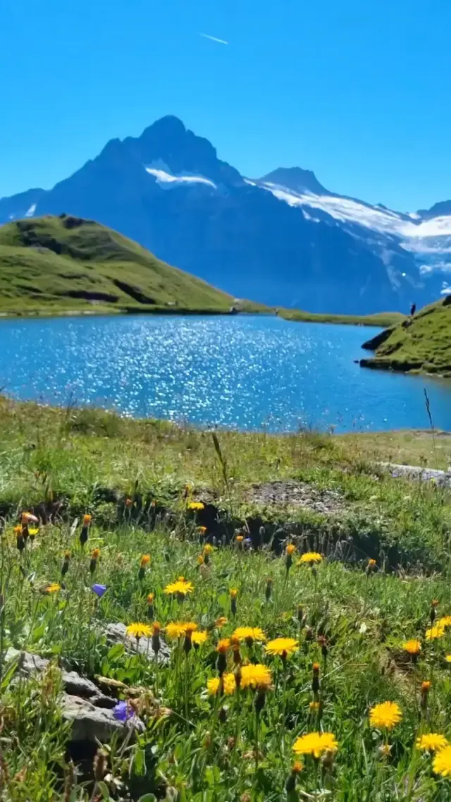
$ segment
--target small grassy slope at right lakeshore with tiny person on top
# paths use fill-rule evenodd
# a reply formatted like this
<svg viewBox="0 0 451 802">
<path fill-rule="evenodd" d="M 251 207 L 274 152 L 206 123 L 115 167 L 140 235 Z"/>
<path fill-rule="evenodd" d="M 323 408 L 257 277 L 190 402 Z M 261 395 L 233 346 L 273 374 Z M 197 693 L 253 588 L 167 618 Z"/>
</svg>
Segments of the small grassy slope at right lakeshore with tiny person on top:
<svg viewBox="0 0 451 802">
<path fill-rule="evenodd" d="M 373 342 L 377 346 L 376 342 Z M 372 341 L 365 344 L 371 350 Z M 363 367 L 451 375 L 451 296 L 393 328 Z"/>
</svg>

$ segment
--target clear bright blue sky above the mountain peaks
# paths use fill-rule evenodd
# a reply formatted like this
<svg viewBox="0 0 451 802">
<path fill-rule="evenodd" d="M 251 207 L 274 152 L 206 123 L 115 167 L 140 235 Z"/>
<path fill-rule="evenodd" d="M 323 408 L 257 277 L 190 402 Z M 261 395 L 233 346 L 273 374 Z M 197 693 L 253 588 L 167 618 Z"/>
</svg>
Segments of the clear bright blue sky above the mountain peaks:
<svg viewBox="0 0 451 802">
<path fill-rule="evenodd" d="M 248 176 L 451 197 L 449 0 L 0 0 L 0 196 L 175 114 Z M 228 45 L 199 36 L 210 34 Z"/>
</svg>

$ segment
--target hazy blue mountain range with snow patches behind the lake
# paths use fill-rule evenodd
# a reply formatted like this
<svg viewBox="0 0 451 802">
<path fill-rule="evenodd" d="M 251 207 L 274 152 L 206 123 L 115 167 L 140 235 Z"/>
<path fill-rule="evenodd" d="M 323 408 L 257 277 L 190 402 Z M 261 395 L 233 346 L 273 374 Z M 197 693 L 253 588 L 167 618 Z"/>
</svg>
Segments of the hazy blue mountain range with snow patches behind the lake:
<svg viewBox="0 0 451 802">
<path fill-rule="evenodd" d="M 109 141 L 50 190 L 0 199 L 0 225 L 62 213 L 270 306 L 406 311 L 451 291 L 451 201 L 400 213 L 332 192 L 298 167 L 242 176 L 173 116 Z"/>
</svg>

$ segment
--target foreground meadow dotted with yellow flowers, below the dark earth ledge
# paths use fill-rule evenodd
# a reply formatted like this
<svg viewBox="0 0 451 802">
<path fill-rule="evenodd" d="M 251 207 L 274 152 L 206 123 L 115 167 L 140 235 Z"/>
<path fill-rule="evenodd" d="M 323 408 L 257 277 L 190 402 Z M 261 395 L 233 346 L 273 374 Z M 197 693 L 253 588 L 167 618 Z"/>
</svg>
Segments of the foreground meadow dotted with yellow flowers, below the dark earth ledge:
<svg viewBox="0 0 451 802">
<path fill-rule="evenodd" d="M 221 537 L 202 488 L 151 518 L 135 488 L 115 520 L 92 503 L 3 519 L 1 799 L 451 799 L 448 561 L 346 559 L 308 525 L 256 541 L 245 516 Z M 409 485 L 390 488 L 401 506 Z M 449 500 L 419 492 L 435 562 Z"/>
</svg>

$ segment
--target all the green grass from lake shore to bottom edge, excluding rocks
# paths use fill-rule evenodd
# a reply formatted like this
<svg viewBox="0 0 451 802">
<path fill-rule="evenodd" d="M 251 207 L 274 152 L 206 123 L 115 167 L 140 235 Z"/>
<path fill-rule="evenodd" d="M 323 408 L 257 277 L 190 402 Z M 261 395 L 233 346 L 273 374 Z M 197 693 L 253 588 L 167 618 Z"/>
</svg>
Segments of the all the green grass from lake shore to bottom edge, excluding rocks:
<svg viewBox="0 0 451 802">
<path fill-rule="evenodd" d="M 297 792 L 284 790 L 292 766 L 292 745 L 299 735 L 321 729 L 336 736 L 339 748 L 333 764 L 329 762 L 325 769 L 320 764 L 319 771 L 311 758 L 303 759 L 298 780 L 302 798 L 316 798 L 319 786 L 332 791 L 327 796 L 322 793 L 321 798 L 336 802 L 388 802 L 407 799 L 405 789 L 411 782 L 410 802 L 448 802 L 449 781 L 433 775 L 431 757 L 415 753 L 413 743 L 419 727 L 419 686 L 432 676 L 424 726 L 427 731 L 451 736 L 451 686 L 444 658 L 451 651 L 451 638 L 448 634 L 432 644 L 425 641 L 431 599 L 440 602 L 438 616 L 451 614 L 451 494 L 430 485 L 391 480 L 378 475 L 370 463 L 372 456 L 389 459 L 393 452 L 400 461 L 403 454 L 410 459 L 416 447 L 430 462 L 428 435 L 422 435 L 417 443 L 416 435 L 401 433 L 365 435 L 364 439 L 314 433 L 285 437 L 221 434 L 229 496 L 207 432 L 119 419 L 91 410 L 51 410 L 6 399 L 0 399 L 0 413 L 0 504 L 3 508 L 6 502 L 13 504 L 2 536 L 1 581 L 6 604 L 0 630 L 4 646 L 23 647 L 55 660 L 63 658 L 91 678 L 103 674 L 127 687 L 143 689 L 130 692 L 139 700 L 147 731 L 121 755 L 113 746 L 108 771 L 112 769 L 115 780 L 121 782 L 110 785 L 110 797 L 104 792 L 106 786 L 99 785 L 99 798 L 137 800 L 141 794 L 155 792 L 163 777 L 176 789 L 165 798 L 175 799 L 179 792 L 181 802 L 295 802 L 300 799 Z M 391 443 L 389 436 L 394 438 Z M 449 444 L 447 448 L 449 454 Z M 375 573 L 365 572 L 364 553 L 356 564 L 343 563 L 343 549 L 336 549 L 325 522 L 321 528 L 320 520 L 309 521 L 302 510 L 276 514 L 281 520 L 292 515 L 290 520 L 308 523 L 304 535 L 296 538 L 296 546 L 298 553 L 314 548 L 328 557 L 318 566 L 316 577 L 308 566 L 296 565 L 296 554 L 288 575 L 284 554 L 274 557 L 267 550 L 248 554 L 237 544 L 214 549 L 209 564 L 199 568 L 202 545 L 196 524 L 201 520 L 186 512 L 184 484 L 193 485 L 197 498 L 207 499 L 206 488 L 210 488 L 222 498 L 225 508 L 230 510 L 231 504 L 236 504 L 243 514 L 241 494 L 248 484 L 287 477 L 333 488 L 344 496 L 348 513 L 338 520 L 334 535 L 344 543 L 344 551 L 359 534 L 368 538 L 368 547 L 376 533 L 387 539 L 400 538 L 411 557 L 408 573 L 385 573 L 386 549 L 375 555 Z M 149 532 L 146 518 L 134 517 L 135 504 L 124 513 L 123 507 L 108 500 L 108 491 L 115 490 L 119 499 L 129 496 L 135 502 L 136 488 L 157 502 L 170 504 L 175 518 L 151 526 Z M 12 529 L 18 510 L 38 500 L 51 505 L 59 497 L 67 501 L 61 520 L 57 525 L 42 526 L 34 547 L 28 545 L 19 557 Z M 87 510 L 94 517 L 83 550 L 79 529 L 71 531 L 70 523 L 75 514 Z M 271 510 L 262 511 L 265 521 L 271 515 Z M 101 553 L 91 577 L 90 553 L 95 547 Z M 46 596 L 42 593 L 46 583 L 61 581 L 67 548 L 71 558 L 65 587 Z M 139 579 L 143 553 L 150 553 L 151 566 Z M 417 558 L 432 560 L 437 573 L 428 574 Z M 183 604 L 171 602 L 163 592 L 179 575 L 194 586 Z M 267 577 L 272 579 L 269 602 L 265 601 Z M 92 581 L 108 588 L 99 604 L 89 590 Z M 232 588 L 238 591 L 236 618 L 229 597 Z M 148 622 L 146 599 L 150 592 L 155 593 L 155 615 L 163 626 L 179 618 L 194 621 L 199 630 L 208 629 L 207 643 L 187 657 L 183 649 L 174 648 L 171 665 L 159 669 L 158 679 L 155 662 L 127 656 L 120 646 L 110 650 L 102 634 L 106 622 Z M 301 625 L 298 604 L 304 615 Z M 228 619 L 220 633 L 214 626 L 219 615 Z M 252 652 L 245 644 L 240 647 L 245 661 L 264 662 L 274 680 L 260 715 L 258 771 L 253 751 L 255 695 L 242 689 L 239 697 L 221 699 L 220 705 L 226 709 L 216 722 L 215 699 L 205 692 L 207 680 L 217 676 L 215 644 L 219 637 L 230 637 L 235 626 L 259 626 L 268 638 L 283 635 L 300 643 L 285 670 L 280 658 L 272 658 L 259 644 Z M 317 641 L 320 634 L 327 638 L 327 659 Z M 402 651 L 406 638 L 422 641 L 416 666 Z M 321 720 L 309 709 L 314 661 L 320 662 Z M 232 668 L 229 654 L 228 670 Z M 5 799 L 62 802 L 95 798 L 92 788 L 83 792 L 87 776 L 75 781 L 72 795 L 64 796 L 62 784 L 58 784 L 58 776 L 65 771 L 66 741 L 58 671 L 50 669 L 41 683 L 32 679 L 14 685 L 10 680 L 11 675 L 3 672 Z M 113 688 L 111 693 L 117 691 Z M 157 715 L 155 720 L 154 695 L 169 708 L 168 718 Z M 119 691 L 119 698 L 123 696 L 124 691 Z M 388 741 L 393 745 L 389 759 L 382 759 L 379 747 L 387 738 L 368 727 L 368 709 L 387 699 L 400 705 L 403 718 L 389 732 Z M 152 759 L 140 769 L 144 751 Z M 85 771 L 87 768 L 89 763 Z M 139 776 L 144 770 L 147 775 Z M 158 793 L 158 798 L 163 796 L 164 792 Z"/>
</svg>

